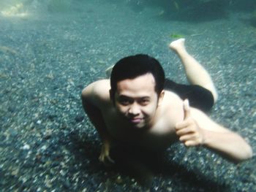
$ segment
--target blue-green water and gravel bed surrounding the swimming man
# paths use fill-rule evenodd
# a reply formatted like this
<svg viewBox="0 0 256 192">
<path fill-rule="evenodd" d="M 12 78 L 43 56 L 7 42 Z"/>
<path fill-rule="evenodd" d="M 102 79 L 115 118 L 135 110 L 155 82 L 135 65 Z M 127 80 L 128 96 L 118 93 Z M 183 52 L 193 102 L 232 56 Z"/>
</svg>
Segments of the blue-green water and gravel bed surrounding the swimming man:
<svg viewBox="0 0 256 192">
<path fill-rule="evenodd" d="M 0 191 L 256 191 L 255 155 L 176 142 L 146 185 L 99 161 L 83 88 L 138 53 L 188 84 L 180 38 L 217 87 L 208 115 L 255 153 L 255 0 L 0 0 Z"/>
</svg>

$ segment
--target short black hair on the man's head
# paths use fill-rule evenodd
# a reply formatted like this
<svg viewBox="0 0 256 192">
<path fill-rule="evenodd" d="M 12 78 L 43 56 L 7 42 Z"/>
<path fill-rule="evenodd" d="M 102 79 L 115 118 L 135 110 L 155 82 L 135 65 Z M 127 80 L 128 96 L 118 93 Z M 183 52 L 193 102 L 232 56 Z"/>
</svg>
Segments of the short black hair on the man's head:
<svg viewBox="0 0 256 192">
<path fill-rule="evenodd" d="M 114 98 L 116 93 L 117 82 L 127 79 L 135 79 L 143 74 L 152 74 L 156 82 L 155 91 L 157 95 L 164 89 L 165 84 L 165 72 L 162 69 L 161 64 L 157 59 L 148 55 L 131 55 L 125 58 L 121 58 L 115 66 L 110 76 L 111 85 L 111 97 Z"/>
</svg>

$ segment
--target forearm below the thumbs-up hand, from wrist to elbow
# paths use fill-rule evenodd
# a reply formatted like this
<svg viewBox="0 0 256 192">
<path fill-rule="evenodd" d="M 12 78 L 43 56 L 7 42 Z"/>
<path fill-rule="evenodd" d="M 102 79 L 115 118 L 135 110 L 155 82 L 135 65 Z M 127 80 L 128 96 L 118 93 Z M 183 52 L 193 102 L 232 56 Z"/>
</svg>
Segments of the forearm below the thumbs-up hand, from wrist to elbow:
<svg viewBox="0 0 256 192">
<path fill-rule="evenodd" d="M 252 157 L 252 147 L 238 134 L 227 131 L 203 130 L 203 145 L 217 151 L 232 161 L 244 161 Z"/>
</svg>

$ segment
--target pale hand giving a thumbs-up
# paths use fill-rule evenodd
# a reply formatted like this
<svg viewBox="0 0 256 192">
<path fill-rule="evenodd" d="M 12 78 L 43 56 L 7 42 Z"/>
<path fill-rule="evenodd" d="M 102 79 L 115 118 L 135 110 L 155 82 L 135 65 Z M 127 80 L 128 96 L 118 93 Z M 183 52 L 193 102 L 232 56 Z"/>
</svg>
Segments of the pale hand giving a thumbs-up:
<svg viewBox="0 0 256 192">
<path fill-rule="evenodd" d="M 203 130 L 197 125 L 195 119 L 190 115 L 189 100 L 185 99 L 184 107 L 184 120 L 176 124 L 176 134 L 179 140 L 187 147 L 195 145 L 203 145 L 204 137 Z"/>
</svg>

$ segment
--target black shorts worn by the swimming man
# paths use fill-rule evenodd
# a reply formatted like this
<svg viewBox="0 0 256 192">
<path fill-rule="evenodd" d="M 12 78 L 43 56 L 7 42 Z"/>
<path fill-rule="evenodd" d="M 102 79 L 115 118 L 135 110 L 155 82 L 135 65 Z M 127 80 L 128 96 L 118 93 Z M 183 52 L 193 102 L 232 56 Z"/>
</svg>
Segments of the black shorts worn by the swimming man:
<svg viewBox="0 0 256 192">
<path fill-rule="evenodd" d="M 172 80 L 165 80 L 165 90 L 172 91 L 181 99 L 189 99 L 189 105 L 203 112 L 208 112 L 214 106 L 214 96 L 211 91 L 200 85 L 181 85 Z"/>
</svg>

